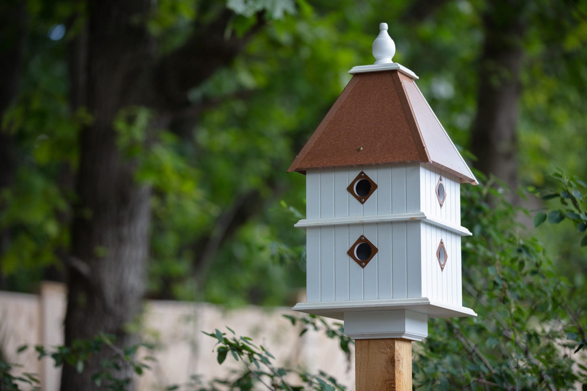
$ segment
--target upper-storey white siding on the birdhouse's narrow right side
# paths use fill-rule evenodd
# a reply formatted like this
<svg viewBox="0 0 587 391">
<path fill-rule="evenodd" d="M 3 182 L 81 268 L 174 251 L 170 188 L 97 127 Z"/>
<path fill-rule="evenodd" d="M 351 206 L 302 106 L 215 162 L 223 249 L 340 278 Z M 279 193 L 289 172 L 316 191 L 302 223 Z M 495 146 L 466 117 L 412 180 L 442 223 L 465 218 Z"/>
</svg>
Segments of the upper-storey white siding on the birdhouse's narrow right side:
<svg viewBox="0 0 587 391">
<path fill-rule="evenodd" d="M 436 197 L 436 184 L 440 176 L 443 178 L 446 191 L 446 200 L 442 208 Z M 456 176 L 430 164 L 420 164 L 420 190 L 422 212 L 435 219 L 461 225 L 460 181 Z"/>
</svg>

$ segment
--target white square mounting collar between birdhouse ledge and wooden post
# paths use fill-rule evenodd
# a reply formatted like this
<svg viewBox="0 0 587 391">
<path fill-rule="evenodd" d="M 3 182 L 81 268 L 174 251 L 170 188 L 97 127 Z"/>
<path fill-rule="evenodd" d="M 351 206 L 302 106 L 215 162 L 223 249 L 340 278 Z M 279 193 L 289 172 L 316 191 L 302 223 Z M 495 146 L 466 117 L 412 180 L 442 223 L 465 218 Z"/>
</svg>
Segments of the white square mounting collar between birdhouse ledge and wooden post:
<svg viewBox="0 0 587 391">
<path fill-rule="evenodd" d="M 345 334 L 352 339 L 406 338 L 421 341 L 428 336 L 428 317 L 406 310 L 345 312 Z"/>
</svg>

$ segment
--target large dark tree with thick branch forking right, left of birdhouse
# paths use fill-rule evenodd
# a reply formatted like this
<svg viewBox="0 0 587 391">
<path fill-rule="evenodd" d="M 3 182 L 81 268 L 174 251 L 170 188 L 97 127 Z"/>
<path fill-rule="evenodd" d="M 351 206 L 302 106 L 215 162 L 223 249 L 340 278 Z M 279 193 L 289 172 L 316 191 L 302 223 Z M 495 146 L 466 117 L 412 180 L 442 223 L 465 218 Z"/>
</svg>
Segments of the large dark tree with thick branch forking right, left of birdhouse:
<svg viewBox="0 0 587 391">
<path fill-rule="evenodd" d="M 69 345 L 108 332 L 128 346 L 134 336 L 124 325 L 141 310 L 151 219 L 151 186 L 136 181 L 130 149 L 153 137 L 153 130 L 168 128 L 178 111 L 191 106 L 187 92 L 230 62 L 262 23 L 230 32 L 234 13 L 203 2 L 191 36 L 162 55 L 146 23 L 154 12 L 151 1 L 89 1 L 82 12 L 76 40 L 85 42 L 69 47 L 72 104 L 85 104 L 92 122 L 80 134 L 65 339 Z M 95 355 L 90 366 L 102 359 Z M 90 377 L 65 366 L 62 389 L 93 389 Z"/>
</svg>

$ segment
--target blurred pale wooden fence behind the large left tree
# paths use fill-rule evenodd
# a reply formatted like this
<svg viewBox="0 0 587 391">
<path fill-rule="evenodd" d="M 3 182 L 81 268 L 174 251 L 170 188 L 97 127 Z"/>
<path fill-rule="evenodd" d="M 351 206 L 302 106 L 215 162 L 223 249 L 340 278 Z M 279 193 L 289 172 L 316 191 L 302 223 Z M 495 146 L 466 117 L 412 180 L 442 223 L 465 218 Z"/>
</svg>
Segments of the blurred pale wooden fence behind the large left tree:
<svg viewBox="0 0 587 391">
<path fill-rule="evenodd" d="M 43 283 L 40 293 L 21 294 L 0 291 L 0 349 L 5 360 L 19 363 L 20 372 L 38 373 L 43 391 L 58 391 L 60 369 L 50 359 L 36 359 L 33 349 L 16 353 L 23 344 L 48 348 L 63 344 L 63 318 L 66 290 L 62 284 Z M 207 303 L 146 301 L 143 335 L 156 342 L 152 369 L 136 379 L 139 390 L 164 390 L 173 384 L 188 382 L 190 376 L 204 380 L 227 376 L 239 364 L 231 359 L 218 365 L 214 339 L 201 331 L 231 327 L 238 335 L 247 335 L 264 345 L 288 368 L 324 370 L 343 385 L 354 385 L 354 366 L 338 347 L 338 341 L 309 331 L 301 338 L 299 326 L 292 327 L 283 314 L 289 308 L 244 307 L 238 310 Z"/>
</svg>

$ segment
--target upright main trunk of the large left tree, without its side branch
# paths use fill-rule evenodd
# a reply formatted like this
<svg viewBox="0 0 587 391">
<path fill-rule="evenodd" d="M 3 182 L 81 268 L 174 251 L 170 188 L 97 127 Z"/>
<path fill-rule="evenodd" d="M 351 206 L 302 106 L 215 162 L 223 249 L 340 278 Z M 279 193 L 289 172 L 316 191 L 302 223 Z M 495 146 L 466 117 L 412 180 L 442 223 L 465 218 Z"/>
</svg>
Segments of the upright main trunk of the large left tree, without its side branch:
<svg viewBox="0 0 587 391">
<path fill-rule="evenodd" d="M 85 101 L 93 115 L 80 137 L 78 205 L 72 225 L 65 343 L 100 332 L 133 344 L 125 325 L 136 319 L 144 294 L 149 249 L 150 188 L 134 179 L 135 164 L 117 147 L 113 120 L 121 108 L 146 104 L 153 66 L 151 39 L 141 23 L 151 2 L 90 2 Z M 63 367 L 61 389 L 94 390 L 92 375 L 114 350 L 93 356 L 81 374 Z M 131 376 L 131 368 L 117 373 Z"/>
</svg>

